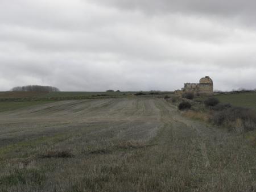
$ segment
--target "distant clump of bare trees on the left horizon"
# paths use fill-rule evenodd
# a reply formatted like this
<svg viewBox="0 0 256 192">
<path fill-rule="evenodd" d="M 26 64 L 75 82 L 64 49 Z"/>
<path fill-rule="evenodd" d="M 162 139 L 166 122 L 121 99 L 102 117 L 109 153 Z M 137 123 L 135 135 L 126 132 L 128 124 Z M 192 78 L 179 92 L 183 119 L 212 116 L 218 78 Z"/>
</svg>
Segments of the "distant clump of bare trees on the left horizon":
<svg viewBox="0 0 256 192">
<path fill-rule="evenodd" d="M 11 91 L 44 91 L 44 92 L 53 92 L 60 91 L 57 87 L 52 86 L 42 86 L 42 85 L 27 85 L 22 87 L 13 87 Z"/>
</svg>

